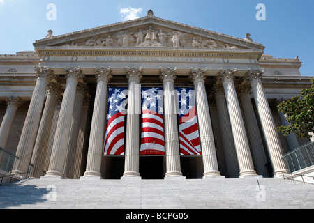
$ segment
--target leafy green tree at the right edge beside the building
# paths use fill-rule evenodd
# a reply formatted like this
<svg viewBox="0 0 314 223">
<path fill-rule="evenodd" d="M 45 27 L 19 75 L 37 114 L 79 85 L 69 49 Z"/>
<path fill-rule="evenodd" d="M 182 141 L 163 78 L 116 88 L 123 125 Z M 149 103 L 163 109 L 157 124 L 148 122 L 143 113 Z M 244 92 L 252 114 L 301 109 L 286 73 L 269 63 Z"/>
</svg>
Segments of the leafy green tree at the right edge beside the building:
<svg viewBox="0 0 314 223">
<path fill-rule="evenodd" d="M 309 132 L 314 134 L 314 78 L 310 89 L 301 90 L 301 94 L 281 102 L 278 110 L 286 114 L 289 126 L 279 126 L 276 129 L 284 135 L 297 134 L 297 137 L 310 139 Z"/>
</svg>

